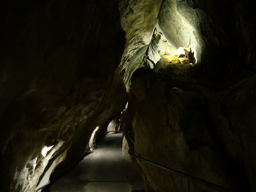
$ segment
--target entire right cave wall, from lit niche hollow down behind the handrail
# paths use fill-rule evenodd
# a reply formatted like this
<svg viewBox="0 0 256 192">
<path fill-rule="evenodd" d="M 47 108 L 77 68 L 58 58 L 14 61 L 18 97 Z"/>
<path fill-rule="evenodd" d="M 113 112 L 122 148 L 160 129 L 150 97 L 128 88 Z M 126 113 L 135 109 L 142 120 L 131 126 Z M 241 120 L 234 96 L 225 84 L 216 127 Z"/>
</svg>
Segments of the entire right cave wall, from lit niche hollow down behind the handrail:
<svg viewBox="0 0 256 192">
<path fill-rule="evenodd" d="M 128 100 L 126 128 L 137 154 L 231 191 L 256 190 L 256 26 L 246 9 L 250 3 L 165 0 Z M 188 45 L 196 49 L 197 64 L 159 62 L 166 46 Z M 148 191 L 186 190 L 185 179 L 138 163 Z"/>
</svg>

